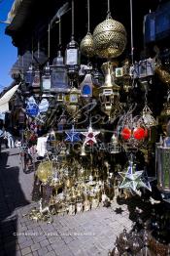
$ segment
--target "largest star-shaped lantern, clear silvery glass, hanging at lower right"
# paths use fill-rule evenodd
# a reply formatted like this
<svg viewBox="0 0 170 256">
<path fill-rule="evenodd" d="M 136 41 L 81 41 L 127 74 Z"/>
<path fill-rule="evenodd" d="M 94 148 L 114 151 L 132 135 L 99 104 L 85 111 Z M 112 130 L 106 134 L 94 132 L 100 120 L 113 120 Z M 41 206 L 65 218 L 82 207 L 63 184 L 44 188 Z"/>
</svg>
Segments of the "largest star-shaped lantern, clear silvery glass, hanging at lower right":
<svg viewBox="0 0 170 256">
<path fill-rule="evenodd" d="M 119 172 L 122 177 L 122 182 L 119 189 L 127 189 L 132 192 L 137 192 L 140 188 L 145 188 L 151 191 L 149 179 L 144 176 L 144 171 L 135 171 L 133 160 L 129 161 L 129 166 L 126 172 Z"/>
</svg>

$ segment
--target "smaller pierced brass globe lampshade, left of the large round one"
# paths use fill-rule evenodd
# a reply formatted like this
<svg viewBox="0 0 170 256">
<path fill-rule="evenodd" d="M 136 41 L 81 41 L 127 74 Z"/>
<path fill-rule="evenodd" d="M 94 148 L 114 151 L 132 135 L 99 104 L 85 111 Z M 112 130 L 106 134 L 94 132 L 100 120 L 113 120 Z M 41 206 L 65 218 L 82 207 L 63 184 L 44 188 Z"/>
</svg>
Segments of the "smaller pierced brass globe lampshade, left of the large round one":
<svg viewBox="0 0 170 256">
<path fill-rule="evenodd" d="M 80 50 L 87 58 L 94 56 L 93 38 L 90 32 L 87 32 L 83 40 L 81 41 Z"/>
</svg>

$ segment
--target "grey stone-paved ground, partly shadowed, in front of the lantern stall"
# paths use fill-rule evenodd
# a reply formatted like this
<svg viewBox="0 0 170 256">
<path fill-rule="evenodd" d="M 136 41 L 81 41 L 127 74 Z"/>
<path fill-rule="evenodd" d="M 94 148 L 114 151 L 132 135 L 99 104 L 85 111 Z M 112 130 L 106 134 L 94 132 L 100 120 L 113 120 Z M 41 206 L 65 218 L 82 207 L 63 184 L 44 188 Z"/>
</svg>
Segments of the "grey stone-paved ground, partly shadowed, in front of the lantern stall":
<svg viewBox="0 0 170 256">
<path fill-rule="evenodd" d="M 31 202 L 34 174 L 24 174 L 17 149 L 0 152 L 0 256 L 107 256 L 117 235 L 129 230 L 126 204 L 100 207 L 75 216 L 54 216 L 53 223 L 25 216 Z"/>
</svg>

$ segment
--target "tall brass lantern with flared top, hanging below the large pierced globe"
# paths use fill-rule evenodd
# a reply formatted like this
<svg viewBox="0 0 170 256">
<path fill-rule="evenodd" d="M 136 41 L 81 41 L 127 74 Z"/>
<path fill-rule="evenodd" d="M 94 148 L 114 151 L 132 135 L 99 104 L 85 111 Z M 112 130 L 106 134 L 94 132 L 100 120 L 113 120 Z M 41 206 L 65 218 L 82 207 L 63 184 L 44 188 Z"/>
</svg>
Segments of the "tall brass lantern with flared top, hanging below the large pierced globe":
<svg viewBox="0 0 170 256">
<path fill-rule="evenodd" d="M 99 99 L 102 111 L 104 111 L 109 118 L 113 110 L 119 107 L 119 86 L 114 82 L 113 65 L 111 63 L 102 64 L 105 72 L 105 83 L 100 87 Z M 115 108 L 115 109 L 114 109 Z"/>
</svg>

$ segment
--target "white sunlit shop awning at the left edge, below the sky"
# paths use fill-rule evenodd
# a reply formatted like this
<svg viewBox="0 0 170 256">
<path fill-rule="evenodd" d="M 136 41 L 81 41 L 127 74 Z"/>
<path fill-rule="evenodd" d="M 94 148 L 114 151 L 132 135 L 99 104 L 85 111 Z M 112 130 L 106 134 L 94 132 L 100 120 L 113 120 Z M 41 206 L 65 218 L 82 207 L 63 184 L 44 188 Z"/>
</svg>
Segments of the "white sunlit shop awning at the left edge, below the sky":
<svg viewBox="0 0 170 256">
<path fill-rule="evenodd" d="M 15 85 L 12 89 L 10 89 L 7 93 L 5 93 L 0 99 L 0 112 L 9 111 L 9 102 L 12 97 L 15 95 L 17 88 L 20 84 Z"/>
</svg>

